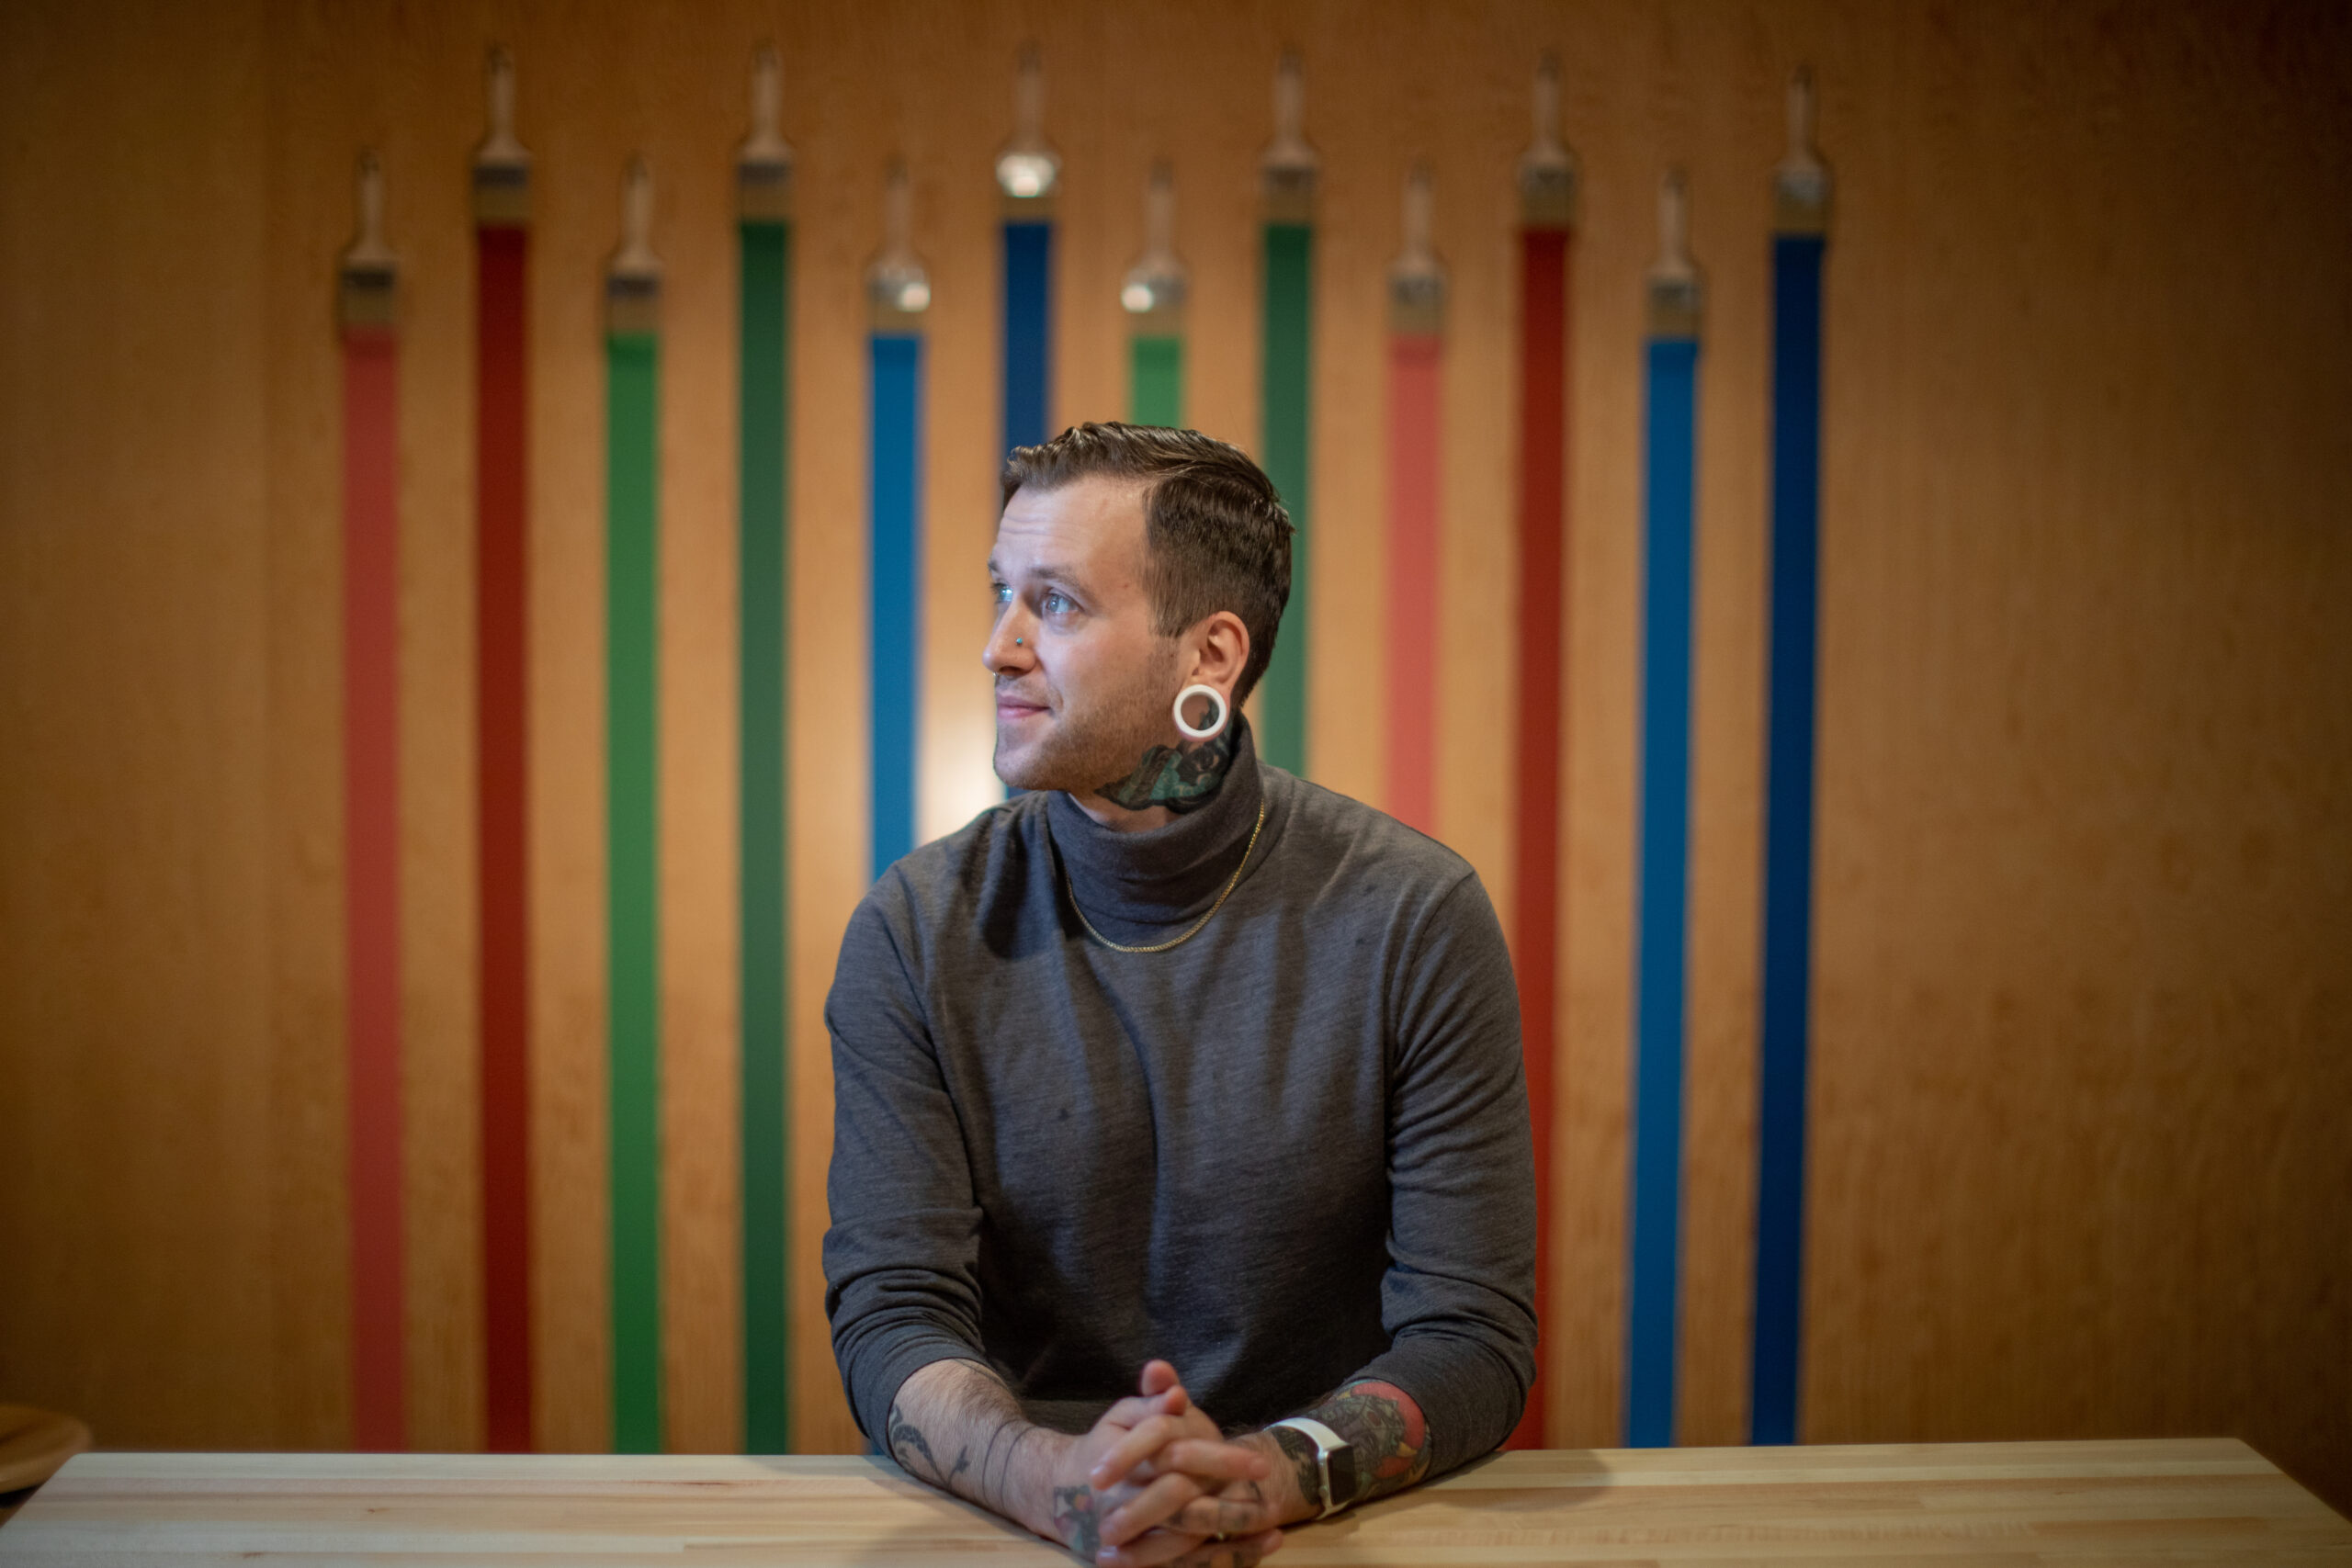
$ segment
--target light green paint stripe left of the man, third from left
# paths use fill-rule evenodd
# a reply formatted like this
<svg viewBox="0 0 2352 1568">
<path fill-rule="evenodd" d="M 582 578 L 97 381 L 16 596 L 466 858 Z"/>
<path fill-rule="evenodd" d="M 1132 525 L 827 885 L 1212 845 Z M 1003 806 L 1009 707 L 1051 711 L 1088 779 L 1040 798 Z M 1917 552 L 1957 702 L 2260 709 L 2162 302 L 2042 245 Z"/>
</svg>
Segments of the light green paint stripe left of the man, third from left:
<svg viewBox="0 0 2352 1568">
<path fill-rule="evenodd" d="M 659 381 L 659 339 L 604 339 L 614 1453 L 661 1453 Z"/>
</svg>

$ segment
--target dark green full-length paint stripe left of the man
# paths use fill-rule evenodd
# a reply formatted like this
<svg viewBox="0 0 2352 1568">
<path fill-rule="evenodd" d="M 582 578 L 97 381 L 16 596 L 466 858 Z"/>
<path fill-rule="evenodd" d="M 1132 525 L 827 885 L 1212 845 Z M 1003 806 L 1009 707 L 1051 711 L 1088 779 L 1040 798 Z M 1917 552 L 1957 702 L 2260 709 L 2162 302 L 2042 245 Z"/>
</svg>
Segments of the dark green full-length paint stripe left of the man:
<svg viewBox="0 0 2352 1568">
<path fill-rule="evenodd" d="M 793 1448 L 786 661 L 790 651 L 793 226 L 743 223 L 741 898 L 743 1450 Z"/>
</svg>

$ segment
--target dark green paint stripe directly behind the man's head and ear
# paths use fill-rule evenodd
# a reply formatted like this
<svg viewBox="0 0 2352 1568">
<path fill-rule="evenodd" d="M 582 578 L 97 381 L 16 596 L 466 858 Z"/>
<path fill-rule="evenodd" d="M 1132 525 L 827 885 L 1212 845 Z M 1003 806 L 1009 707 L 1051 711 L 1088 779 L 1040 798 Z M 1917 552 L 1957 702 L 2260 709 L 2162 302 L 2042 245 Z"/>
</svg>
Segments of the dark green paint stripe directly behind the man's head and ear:
<svg viewBox="0 0 2352 1568">
<path fill-rule="evenodd" d="M 1315 228 L 1265 226 L 1265 357 L 1261 461 L 1298 534 L 1291 538 L 1291 604 L 1275 658 L 1258 684 L 1258 755 L 1279 769 L 1308 766 L 1308 468 L 1315 324 Z"/>
</svg>

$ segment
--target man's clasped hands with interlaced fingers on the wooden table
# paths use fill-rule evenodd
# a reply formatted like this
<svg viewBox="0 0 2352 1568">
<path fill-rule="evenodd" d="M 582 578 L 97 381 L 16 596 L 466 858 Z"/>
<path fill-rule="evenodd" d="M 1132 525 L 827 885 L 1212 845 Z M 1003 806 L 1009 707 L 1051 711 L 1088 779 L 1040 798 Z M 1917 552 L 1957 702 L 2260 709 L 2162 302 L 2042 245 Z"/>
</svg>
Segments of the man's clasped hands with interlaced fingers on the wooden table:
<svg viewBox="0 0 2352 1568">
<path fill-rule="evenodd" d="M 1063 1544 L 1103 1568 L 1251 1568 L 1282 1544 L 1284 1502 L 1272 1446 L 1228 1441 L 1167 1361 L 1054 1476 Z"/>
</svg>

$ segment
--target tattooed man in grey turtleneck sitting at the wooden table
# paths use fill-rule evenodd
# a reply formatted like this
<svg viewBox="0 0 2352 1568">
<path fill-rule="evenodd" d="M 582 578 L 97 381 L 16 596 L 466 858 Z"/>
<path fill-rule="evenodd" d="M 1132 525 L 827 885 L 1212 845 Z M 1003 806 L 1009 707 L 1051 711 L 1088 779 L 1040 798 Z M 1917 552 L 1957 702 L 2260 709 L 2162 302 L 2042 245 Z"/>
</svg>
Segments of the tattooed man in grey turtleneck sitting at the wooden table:
<svg viewBox="0 0 2352 1568">
<path fill-rule="evenodd" d="M 833 1349 L 917 1479 L 1082 1561 L 1247 1568 L 1519 1418 L 1510 959 L 1468 863 L 1256 759 L 1291 527 L 1247 456 L 1077 425 L 1002 489 L 1028 795 L 842 938 Z"/>
</svg>

